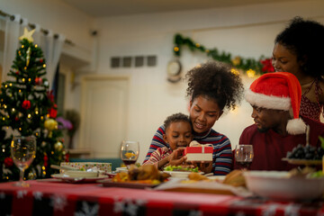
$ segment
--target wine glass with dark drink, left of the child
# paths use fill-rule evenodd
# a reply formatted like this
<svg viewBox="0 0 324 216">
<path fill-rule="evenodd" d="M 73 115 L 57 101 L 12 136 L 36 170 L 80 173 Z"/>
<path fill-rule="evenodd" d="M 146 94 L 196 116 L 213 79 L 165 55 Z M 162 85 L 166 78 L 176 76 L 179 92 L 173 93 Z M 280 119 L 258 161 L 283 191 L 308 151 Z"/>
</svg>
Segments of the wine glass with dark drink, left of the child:
<svg viewBox="0 0 324 216">
<path fill-rule="evenodd" d="M 131 164 L 135 164 L 139 157 L 139 142 L 138 141 L 121 141 L 121 160 L 130 168 Z"/>
</svg>

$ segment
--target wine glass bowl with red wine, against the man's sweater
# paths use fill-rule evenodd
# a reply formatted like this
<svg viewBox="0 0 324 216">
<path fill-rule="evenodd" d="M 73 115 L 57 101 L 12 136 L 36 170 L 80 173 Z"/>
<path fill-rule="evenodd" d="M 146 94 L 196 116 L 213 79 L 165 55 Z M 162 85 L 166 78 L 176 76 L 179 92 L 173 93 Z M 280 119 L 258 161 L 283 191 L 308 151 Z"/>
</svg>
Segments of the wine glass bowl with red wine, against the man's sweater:
<svg viewBox="0 0 324 216">
<path fill-rule="evenodd" d="M 251 165 L 253 157 L 252 145 L 238 145 L 235 148 L 235 161 L 241 169 L 247 169 Z"/>
</svg>

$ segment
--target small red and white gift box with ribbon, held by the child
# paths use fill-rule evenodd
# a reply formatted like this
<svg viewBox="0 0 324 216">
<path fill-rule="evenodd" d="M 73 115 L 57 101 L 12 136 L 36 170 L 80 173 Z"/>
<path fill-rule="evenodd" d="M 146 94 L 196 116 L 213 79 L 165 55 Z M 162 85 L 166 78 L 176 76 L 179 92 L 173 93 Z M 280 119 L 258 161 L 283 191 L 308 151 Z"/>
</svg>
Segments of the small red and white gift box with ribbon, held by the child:
<svg viewBox="0 0 324 216">
<path fill-rule="evenodd" d="M 187 160 L 199 160 L 199 161 L 212 161 L 211 146 L 199 146 L 199 147 L 186 147 L 184 149 L 184 155 Z"/>
</svg>

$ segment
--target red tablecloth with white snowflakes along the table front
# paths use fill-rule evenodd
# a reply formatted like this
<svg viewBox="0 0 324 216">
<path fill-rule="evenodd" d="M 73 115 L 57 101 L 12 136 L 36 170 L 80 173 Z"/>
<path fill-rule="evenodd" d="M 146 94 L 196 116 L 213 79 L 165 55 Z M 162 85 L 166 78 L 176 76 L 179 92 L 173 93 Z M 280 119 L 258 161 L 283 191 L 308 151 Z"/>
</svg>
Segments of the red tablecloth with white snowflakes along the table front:
<svg viewBox="0 0 324 216">
<path fill-rule="evenodd" d="M 273 202 L 37 180 L 29 184 L 0 184 L 0 215 L 324 215 L 323 201 Z"/>
</svg>

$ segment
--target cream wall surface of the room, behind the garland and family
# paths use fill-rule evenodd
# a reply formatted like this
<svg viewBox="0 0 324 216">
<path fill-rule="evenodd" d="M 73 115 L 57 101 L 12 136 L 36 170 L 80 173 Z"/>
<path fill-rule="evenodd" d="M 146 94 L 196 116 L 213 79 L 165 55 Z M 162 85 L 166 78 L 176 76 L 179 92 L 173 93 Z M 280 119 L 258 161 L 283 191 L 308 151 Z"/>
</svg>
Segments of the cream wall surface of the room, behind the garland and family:
<svg viewBox="0 0 324 216">
<path fill-rule="evenodd" d="M 275 35 L 293 16 L 301 15 L 324 23 L 324 1 L 320 0 L 101 19 L 85 16 L 60 1 L 0 2 L 0 10 L 10 14 L 22 14 L 31 22 L 64 33 L 82 50 L 92 49 L 93 39 L 88 31 L 99 32 L 100 49 L 95 73 L 131 77 L 128 113 L 130 119 L 125 130 L 128 132 L 127 139 L 136 139 L 141 143 L 139 162 L 145 157 L 153 134 L 166 116 L 174 112 L 187 113 L 187 101 L 184 97 L 186 83 L 170 84 L 166 81 L 167 62 L 174 58 L 172 48 L 176 32 L 207 48 L 217 47 L 233 55 L 259 58 L 261 55 L 271 57 Z M 61 7 L 62 11 L 58 11 Z M 156 55 L 157 67 L 110 67 L 111 57 L 138 55 Z M 77 54 L 74 58 L 78 58 Z M 207 58 L 201 53 L 186 49 L 183 50 L 180 60 L 185 72 Z M 73 67 L 73 64 L 68 67 Z M 65 70 L 73 71 L 71 68 Z M 76 82 L 82 76 L 79 73 Z M 243 76 L 243 80 L 247 87 L 253 81 L 246 76 Z M 68 108 L 78 108 L 80 87 L 76 85 L 67 98 Z M 241 131 L 252 123 L 250 114 L 249 104 L 242 103 L 237 112 L 223 115 L 214 129 L 227 135 L 235 146 Z"/>
</svg>

